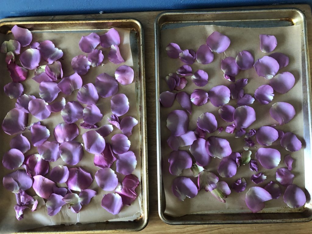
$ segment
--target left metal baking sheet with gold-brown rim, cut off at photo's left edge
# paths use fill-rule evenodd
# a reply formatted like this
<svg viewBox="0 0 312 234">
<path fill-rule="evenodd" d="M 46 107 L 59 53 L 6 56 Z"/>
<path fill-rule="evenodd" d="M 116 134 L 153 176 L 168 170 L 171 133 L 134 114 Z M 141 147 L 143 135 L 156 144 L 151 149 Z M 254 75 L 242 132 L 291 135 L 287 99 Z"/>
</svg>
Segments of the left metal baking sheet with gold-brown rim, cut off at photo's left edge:
<svg viewBox="0 0 312 234">
<path fill-rule="evenodd" d="M 91 15 L 82 15 L 81 19 L 72 20 L 71 16 L 63 16 L 61 19 L 51 20 L 41 19 L 36 20 L 32 17 L 24 18 L 7 18 L 0 20 L 0 33 L 7 34 L 12 26 L 18 25 L 28 28 L 34 33 L 59 33 L 59 32 L 97 32 L 110 29 L 112 27 L 130 29 L 130 47 L 134 66 L 134 83 L 136 99 L 137 117 L 139 122 L 138 144 L 139 155 L 141 160 L 140 168 L 140 191 L 141 198 L 141 216 L 134 221 L 105 221 L 88 224 L 77 223 L 75 225 L 55 225 L 39 227 L 32 230 L 26 230 L 19 233 L 103 233 L 103 232 L 133 232 L 140 231 L 146 227 L 148 223 L 148 175 L 147 175 L 147 133 L 146 133 L 146 104 L 145 104 L 145 72 L 144 72 L 144 38 L 143 28 L 139 21 L 131 18 L 119 19 L 103 19 L 101 17 L 94 18 Z M 3 87 L 2 83 L 2 87 Z M 3 90 L 3 89 L 2 89 Z M 2 91 L 3 92 L 3 91 Z M 5 116 L 2 115 L 3 117 Z M 2 121 L 2 120 L 1 120 Z M 2 131 L 1 138 L 4 139 L 7 135 Z M 0 190 L 4 189 L 3 186 Z M 1 191 L 0 191 L 1 192 Z M 12 194 L 11 194 L 12 195 Z M 138 197 L 139 199 L 139 197 Z M 0 201 L 0 206 L 5 207 L 5 199 Z M 100 206 L 100 204 L 99 204 Z M 11 208 L 11 207 L 10 207 Z"/>
</svg>

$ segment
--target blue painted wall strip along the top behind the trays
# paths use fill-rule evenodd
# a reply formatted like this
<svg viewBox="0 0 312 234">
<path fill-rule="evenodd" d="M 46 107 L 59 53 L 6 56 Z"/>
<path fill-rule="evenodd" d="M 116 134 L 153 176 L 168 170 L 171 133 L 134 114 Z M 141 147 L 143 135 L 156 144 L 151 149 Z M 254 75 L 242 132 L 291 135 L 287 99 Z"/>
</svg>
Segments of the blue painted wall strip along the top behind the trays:
<svg viewBox="0 0 312 234">
<path fill-rule="evenodd" d="M 0 0 L 0 18 L 308 3 L 312 0 Z"/>
</svg>

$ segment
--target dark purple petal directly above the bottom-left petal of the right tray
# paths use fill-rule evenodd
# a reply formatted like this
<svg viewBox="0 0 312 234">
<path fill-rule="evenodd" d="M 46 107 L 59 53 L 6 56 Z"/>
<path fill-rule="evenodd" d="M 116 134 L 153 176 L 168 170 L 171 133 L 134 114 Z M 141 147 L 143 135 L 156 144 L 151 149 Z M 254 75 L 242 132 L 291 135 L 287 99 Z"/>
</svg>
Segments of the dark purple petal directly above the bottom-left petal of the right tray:
<svg viewBox="0 0 312 234">
<path fill-rule="evenodd" d="M 184 150 L 172 151 L 169 155 L 169 172 L 172 175 L 180 175 L 183 169 L 191 168 L 192 158 Z"/>
</svg>

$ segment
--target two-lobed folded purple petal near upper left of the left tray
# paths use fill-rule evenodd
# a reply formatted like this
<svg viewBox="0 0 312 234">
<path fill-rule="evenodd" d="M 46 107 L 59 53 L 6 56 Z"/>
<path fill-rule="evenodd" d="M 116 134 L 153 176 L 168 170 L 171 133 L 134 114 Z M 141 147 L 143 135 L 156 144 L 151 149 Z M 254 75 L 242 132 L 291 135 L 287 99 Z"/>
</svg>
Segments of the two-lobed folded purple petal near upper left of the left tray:
<svg viewBox="0 0 312 234">
<path fill-rule="evenodd" d="M 52 41 L 42 41 L 37 48 L 40 50 L 42 58 L 49 64 L 52 64 L 63 56 L 63 51 L 55 47 Z"/>
</svg>

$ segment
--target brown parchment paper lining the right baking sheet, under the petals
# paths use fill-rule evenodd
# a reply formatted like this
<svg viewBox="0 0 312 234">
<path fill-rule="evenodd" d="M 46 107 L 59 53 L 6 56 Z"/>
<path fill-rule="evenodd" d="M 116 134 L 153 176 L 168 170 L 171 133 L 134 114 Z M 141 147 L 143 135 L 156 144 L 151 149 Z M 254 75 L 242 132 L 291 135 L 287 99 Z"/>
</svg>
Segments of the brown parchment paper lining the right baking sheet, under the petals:
<svg viewBox="0 0 312 234">
<path fill-rule="evenodd" d="M 207 26 L 187 26 L 176 29 L 166 29 L 161 31 L 161 62 L 160 62 L 160 92 L 167 91 L 168 86 L 165 82 L 165 77 L 169 73 L 175 73 L 175 71 L 183 65 L 183 63 L 179 59 L 170 59 L 166 54 L 166 46 L 171 43 L 177 43 L 182 50 L 185 49 L 193 49 L 197 51 L 200 45 L 206 43 L 207 36 L 209 36 L 213 31 L 219 31 L 225 35 L 227 35 L 231 44 L 229 48 L 225 51 L 225 53 L 217 54 L 214 53 L 214 60 L 210 64 L 199 64 L 195 62 L 190 65 L 193 69 L 193 73 L 198 69 L 202 69 L 208 73 L 209 79 L 208 84 L 204 87 L 197 87 L 191 80 L 191 77 L 186 77 L 188 80 L 188 84 L 183 89 L 183 91 L 191 94 L 194 89 L 201 88 L 205 91 L 209 91 L 210 88 L 216 85 L 225 85 L 229 86 L 231 84 L 230 81 L 227 81 L 223 78 L 223 72 L 221 70 L 221 60 L 228 57 L 236 57 L 237 53 L 242 50 L 249 50 L 255 57 L 255 61 L 264 55 L 268 55 L 263 53 L 260 50 L 260 40 L 259 34 L 269 34 L 275 35 L 277 38 L 277 47 L 272 52 L 282 52 L 289 56 L 290 63 L 285 68 L 279 70 L 279 73 L 284 71 L 289 71 L 295 76 L 295 86 L 286 94 L 275 93 L 273 98 L 273 102 L 268 105 L 262 105 L 258 103 L 256 100 L 250 106 L 253 107 L 256 111 L 256 121 L 248 128 L 257 129 L 261 126 L 268 125 L 271 126 L 273 124 L 278 124 L 269 113 L 269 109 L 271 105 L 275 102 L 288 102 L 291 103 L 296 110 L 296 115 L 289 123 L 283 126 L 277 126 L 277 129 L 281 129 L 283 131 L 291 131 L 295 133 L 303 142 L 303 112 L 302 112 L 302 72 L 301 72 L 301 37 L 303 36 L 300 26 L 288 26 L 288 27 L 276 27 L 276 28 L 233 28 L 233 27 L 225 27 L 225 26 L 215 26 L 215 25 L 207 25 Z M 270 54 L 270 53 L 269 53 Z M 240 73 L 236 76 L 236 80 L 241 78 L 248 78 L 248 84 L 244 88 L 245 93 L 251 94 L 254 97 L 254 92 L 256 88 L 263 84 L 269 84 L 269 80 L 264 79 L 263 77 L 259 77 L 256 74 L 255 69 L 251 68 L 246 71 L 240 71 Z M 177 91 L 173 91 L 177 92 Z M 230 100 L 228 103 L 236 107 L 236 100 Z M 166 210 L 165 213 L 177 217 L 185 214 L 198 214 L 198 213 L 239 213 L 239 212 L 250 212 L 245 204 L 245 195 L 248 189 L 252 186 L 256 186 L 251 180 L 250 177 L 252 174 L 256 174 L 249 170 L 248 165 L 241 165 L 238 168 L 237 173 L 232 178 L 222 178 L 219 176 L 219 180 L 226 181 L 229 186 L 236 181 L 237 179 L 243 177 L 246 179 L 247 187 L 245 191 L 241 193 L 236 193 L 232 190 L 232 193 L 226 198 L 226 203 L 219 202 L 216 198 L 212 196 L 211 193 L 207 193 L 204 190 L 201 190 L 195 198 L 189 199 L 186 198 L 183 202 L 180 201 L 177 197 L 175 197 L 172 193 L 172 182 L 176 176 L 173 176 L 169 173 L 169 163 L 168 156 L 172 151 L 168 144 L 167 139 L 170 136 L 170 131 L 166 127 L 166 119 L 168 113 L 175 109 L 182 109 L 182 107 L 178 104 L 177 101 L 174 102 L 173 106 L 170 108 L 161 107 L 161 149 L 162 149 L 162 157 L 163 157 L 163 185 L 166 197 Z M 211 112 L 215 115 L 218 127 L 222 126 L 224 129 L 227 125 L 232 123 L 227 123 L 223 121 L 218 114 L 219 107 L 214 107 L 209 101 L 201 106 L 197 107 L 192 105 L 192 115 L 190 116 L 190 124 L 189 130 L 195 130 L 197 118 L 203 112 Z M 216 136 L 218 131 L 213 134 L 207 134 L 208 136 Z M 230 142 L 232 151 L 243 151 L 244 146 L 244 138 L 234 138 L 234 134 L 226 133 L 222 131 L 218 136 L 227 139 Z M 206 139 L 207 139 L 206 137 Z M 254 139 L 254 138 L 253 138 Z M 254 139 L 256 142 L 256 140 Z M 304 146 L 305 144 L 303 144 Z M 256 150 L 261 147 L 256 142 L 256 147 L 251 148 L 252 151 L 251 158 L 255 159 Z M 275 148 L 281 153 L 281 161 L 277 168 L 286 167 L 284 164 L 284 156 L 289 154 L 289 151 L 286 151 L 280 146 L 280 139 L 275 141 L 271 148 Z M 185 146 L 181 148 L 182 150 L 189 150 L 189 146 Z M 292 172 L 295 174 L 294 184 L 297 184 L 301 188 L 304 188 L 305 178 L 304 178 L 304 150 L 301 149 L 297 152 L 291 153 L 291 156 L 295 159 L 293 163 Z M 217 168 L 220 163 L 220 159 L 212 159 L 210 164 L 207 165 L 207 169 L 219 175 L 217 173 Z M 277 168 L 268 170 L 263 168 L 259 163 L 259 171 L 264 172 L 267 176 L 267 179 L 258 184 L 261 187 L 264 187 L 270 181 L 275 180 L 275 171 Z M 183 170 L 184 176 L 188 176 L 192 178 L 195 184 L 197 184 L 197 178 L 193 178 L 189 169 Z M 280 186 L 282 193 L 285 191 L 284 186 Z M 292 212 L 299 211 L 298 209 L 290 209 L 283 202 L 283 197 L 281 196 L 278 199 L 270 200 L 266 202 L 266 208 L 261 212 Z"/>
</svg>

